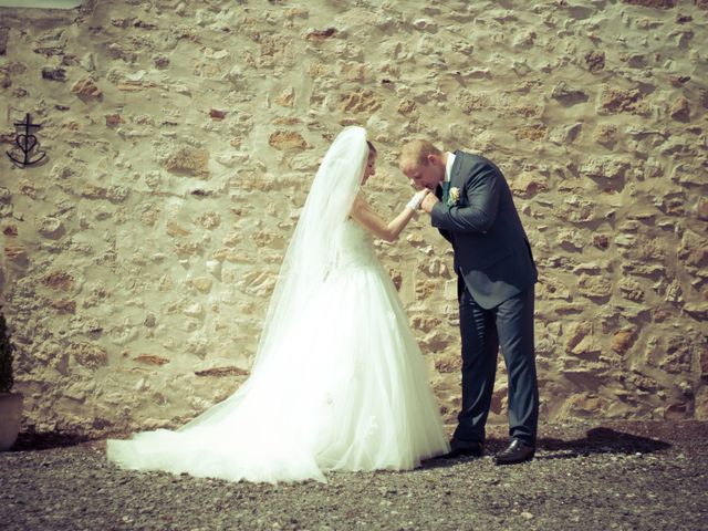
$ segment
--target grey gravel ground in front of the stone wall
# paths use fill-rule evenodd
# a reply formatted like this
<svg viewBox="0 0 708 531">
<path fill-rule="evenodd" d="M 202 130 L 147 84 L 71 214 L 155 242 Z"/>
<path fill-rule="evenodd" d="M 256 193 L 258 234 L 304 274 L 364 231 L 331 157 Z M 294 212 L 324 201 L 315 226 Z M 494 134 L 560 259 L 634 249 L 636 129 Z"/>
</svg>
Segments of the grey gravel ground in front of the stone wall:
<svg viewBox="0 0 708 531">
<path fill-rule="evenodd" d="M 488 455 L 506 446 L 490 430 Z M 105 441 L 21 435 L 0 454 L 4 530 L 705 530 L 708 423 L 541 427 L 537 458 L 431 460 L 327 483 L 230 483 L 106 462 Z"/>
</svg>

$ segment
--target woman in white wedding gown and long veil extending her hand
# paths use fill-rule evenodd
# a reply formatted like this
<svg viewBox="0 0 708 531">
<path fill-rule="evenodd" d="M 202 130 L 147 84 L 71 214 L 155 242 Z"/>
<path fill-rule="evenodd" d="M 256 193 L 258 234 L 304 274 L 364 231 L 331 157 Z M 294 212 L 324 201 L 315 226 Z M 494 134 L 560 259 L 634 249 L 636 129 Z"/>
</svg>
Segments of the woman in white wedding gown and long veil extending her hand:
<svg viewBox="0 0 708 531">
<path fill-rule="evenodd" d="M 369 236 L 395 240 L 427 190 L 386 223 L 360 195 L 375 163 L 362 127 L 345 127 L 330 146 L 243 385 L 176 431 L 108 440 L 110 460 L 232 481 L 324 481 L 331 470 L 409 470 L 449 450 Z"/>
</svg>

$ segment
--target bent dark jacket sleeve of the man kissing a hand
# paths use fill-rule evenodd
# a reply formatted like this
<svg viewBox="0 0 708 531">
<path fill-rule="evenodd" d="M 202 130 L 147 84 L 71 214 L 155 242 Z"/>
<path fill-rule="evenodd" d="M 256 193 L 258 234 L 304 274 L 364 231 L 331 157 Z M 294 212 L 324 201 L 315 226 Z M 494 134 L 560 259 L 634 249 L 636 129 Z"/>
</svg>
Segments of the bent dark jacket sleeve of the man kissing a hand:
<svg viewBox="0 0 708 531">
<path fill-rule="evenodd" d="M 438 202 L 430 212 L 433 227 L 459 232 L 487 232 L 497 219 L 499 178 L 491 166 L 473 169 L 466 186 L 467 205 L 448 207 Z"/>
</svg>

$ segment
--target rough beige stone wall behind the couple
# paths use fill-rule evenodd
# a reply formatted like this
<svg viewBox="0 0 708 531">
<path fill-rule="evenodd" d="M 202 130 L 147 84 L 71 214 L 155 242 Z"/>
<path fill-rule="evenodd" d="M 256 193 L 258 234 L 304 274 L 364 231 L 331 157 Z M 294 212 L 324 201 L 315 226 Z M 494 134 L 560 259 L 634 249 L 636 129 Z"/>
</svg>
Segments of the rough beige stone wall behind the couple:
<svg viewBox="0 0 708 531">
<path fill-rule="evenodd" d="M 343 125 L 480 152 L 533 246 L 542 419 L 708 418 L 708 2 L 101 1 L 0 8 L 3 312 L 29 429 L 176 426 L 244 381 Z M 376 242 L 448 421 L 456 281 L 424 216 Z M 493 421 L 506 421 L 500 361 Z"/>
</svg>

